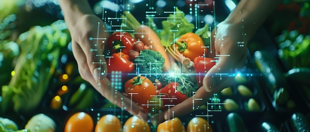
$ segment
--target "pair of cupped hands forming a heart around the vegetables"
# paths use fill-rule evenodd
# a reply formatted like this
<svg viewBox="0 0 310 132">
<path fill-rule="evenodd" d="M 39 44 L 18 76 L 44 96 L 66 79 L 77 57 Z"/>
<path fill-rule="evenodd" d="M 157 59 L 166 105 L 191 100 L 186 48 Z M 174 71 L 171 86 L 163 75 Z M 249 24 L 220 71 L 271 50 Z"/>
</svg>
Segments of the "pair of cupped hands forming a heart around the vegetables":
<svg viewBox="0 0 310 132">
<path fill-rule="evenodd" d="M 244 39 L 246 35 L 243 35 L 242 24 L 221 22 L 211 34 L 212 49 L 209 50 L 212 51 L 212 56 L 218 58 L 218 62 L 207 72 L 203 80 L 204 86 L 199 88 L 193 97 L 150 119 L 142 107 L 131 103 L 129 98 L 115 91 L 106 78 L 105 59 L 100 56 L 103 54 L 104 41 L 108 37 L 108 33 L 104 32 L 106 27 L 103 21 L 96 15 L 84 15 L 75 25 L 68 28 L 72 37 L 73 55 L 81 77 L 112 103 L 140 119 L 151 120 L 155 125 L 193 111 L 193 98 L 199 99 L 194 103 L 197 108 L 207 103 L 213 93 L 229 87 L 234 79 L 230 73 L 244 66 L 247 56 L 247 39 Z"/>
</svg>

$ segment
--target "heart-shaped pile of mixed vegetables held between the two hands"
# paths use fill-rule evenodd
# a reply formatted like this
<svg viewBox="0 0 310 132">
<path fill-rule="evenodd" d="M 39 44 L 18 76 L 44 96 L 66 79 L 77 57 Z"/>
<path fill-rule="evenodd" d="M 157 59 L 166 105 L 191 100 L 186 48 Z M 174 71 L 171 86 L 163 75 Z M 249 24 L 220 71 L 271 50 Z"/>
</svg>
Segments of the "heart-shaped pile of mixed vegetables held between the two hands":
<svg viewBox="0 0 310 132">
<path fill-rule="evenodd" d="M 107 77 L 121 73 L 127 96 L 150 114 L 193 96 L 215 65 L 215 60 L 206 56 L 208 25 L 194 33 L 194 24 L 175 9 L 162 21 L 162 29 L 153 18 L 143 25 L 124 11 L 123 29 L 112 33 L 105 44 Z"/>
</svg>

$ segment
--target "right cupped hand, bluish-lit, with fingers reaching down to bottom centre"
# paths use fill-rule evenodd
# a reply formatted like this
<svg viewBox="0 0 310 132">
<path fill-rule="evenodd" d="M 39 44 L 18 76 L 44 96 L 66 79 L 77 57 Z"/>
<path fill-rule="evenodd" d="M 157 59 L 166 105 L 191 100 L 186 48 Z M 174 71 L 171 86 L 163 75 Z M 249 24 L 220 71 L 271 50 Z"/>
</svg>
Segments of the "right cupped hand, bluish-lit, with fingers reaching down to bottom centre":
<svg viewBox="0 0 310 132">
<path fill-rule="evenodd" d="M 204 85 L 193 97 L 156 115 L 152 119 L 153 124 L 188 114 L 206 104 L 214 93 L 231 86 L 234 74 L 245 64 L 249 38 L 244 33 L 242 24 L 223 21 L 212 31 L 211 39 L 212 49 L 209 51 L 213 51 L 211 55 L 217 59 L 217 63 L 204 77 Z"/>
</svg>

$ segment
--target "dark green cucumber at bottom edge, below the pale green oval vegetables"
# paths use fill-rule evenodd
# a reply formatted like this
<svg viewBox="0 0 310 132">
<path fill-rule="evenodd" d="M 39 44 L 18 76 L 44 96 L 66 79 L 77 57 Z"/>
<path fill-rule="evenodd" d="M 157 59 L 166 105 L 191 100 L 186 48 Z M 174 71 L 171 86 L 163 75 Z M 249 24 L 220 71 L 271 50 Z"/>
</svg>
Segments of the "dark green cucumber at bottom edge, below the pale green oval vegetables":
<svg viewBox="0 0 310 132">
<path fill-rule="evenodd" d="M 242 117 L 237 113 L 229 113 L 227 115 L 227 124 L 229 132 L 248 132 Z"/>
</svg>

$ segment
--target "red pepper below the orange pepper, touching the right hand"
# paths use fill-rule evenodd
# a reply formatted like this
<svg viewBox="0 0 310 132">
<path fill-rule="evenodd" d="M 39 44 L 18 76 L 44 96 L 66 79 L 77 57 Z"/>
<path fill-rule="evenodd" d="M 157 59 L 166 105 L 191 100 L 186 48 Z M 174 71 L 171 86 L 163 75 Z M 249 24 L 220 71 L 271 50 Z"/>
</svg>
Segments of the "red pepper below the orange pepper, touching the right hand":
<svg viewBox="0 0 310 132">
<path fill-rule="evenodd" d="M 203 79 L 212 66 L 215 65 L 215 59 L 207 57 L 196 57 L 194 59 L 194 68 L 198 86 L 203 86 Z"/>
</svg>

